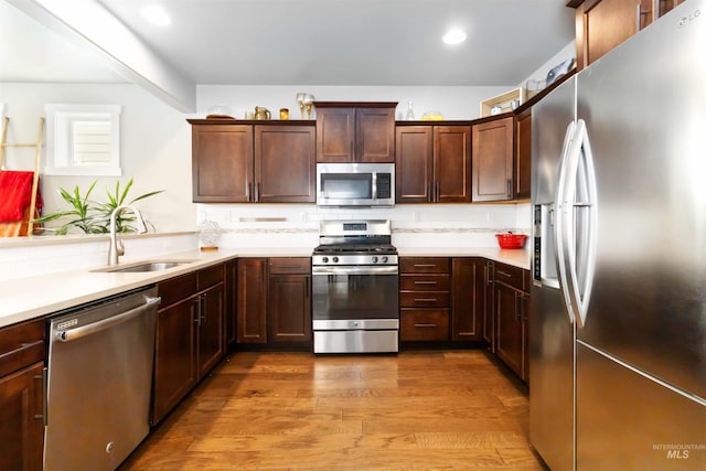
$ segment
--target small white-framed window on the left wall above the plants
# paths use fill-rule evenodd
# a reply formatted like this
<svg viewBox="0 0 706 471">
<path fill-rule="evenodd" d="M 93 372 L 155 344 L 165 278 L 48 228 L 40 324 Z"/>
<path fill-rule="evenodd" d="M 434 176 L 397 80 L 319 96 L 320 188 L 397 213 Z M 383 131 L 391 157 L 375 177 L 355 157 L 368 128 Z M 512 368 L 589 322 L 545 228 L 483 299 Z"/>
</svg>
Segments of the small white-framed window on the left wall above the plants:
<svg viewBox="0 0 706 471">
<path fill-rule="evenodd" d="M 45 105 L 47 175 L 121 176 L 120 105 Z"/>
</svg>

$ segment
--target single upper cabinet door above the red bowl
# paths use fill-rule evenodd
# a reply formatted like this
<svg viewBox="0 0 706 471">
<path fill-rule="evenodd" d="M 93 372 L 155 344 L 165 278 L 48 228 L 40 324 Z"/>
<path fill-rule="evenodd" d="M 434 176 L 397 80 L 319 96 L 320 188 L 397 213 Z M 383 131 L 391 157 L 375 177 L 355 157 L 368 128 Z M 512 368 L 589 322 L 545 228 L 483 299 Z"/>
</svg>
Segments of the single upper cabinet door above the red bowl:
<svg viewBox="0 0 706 471">
<path fill-rule="evenodd" d="M 473 201 L 512 197 L 513 118 L 473 126 Z"/>
</svg>

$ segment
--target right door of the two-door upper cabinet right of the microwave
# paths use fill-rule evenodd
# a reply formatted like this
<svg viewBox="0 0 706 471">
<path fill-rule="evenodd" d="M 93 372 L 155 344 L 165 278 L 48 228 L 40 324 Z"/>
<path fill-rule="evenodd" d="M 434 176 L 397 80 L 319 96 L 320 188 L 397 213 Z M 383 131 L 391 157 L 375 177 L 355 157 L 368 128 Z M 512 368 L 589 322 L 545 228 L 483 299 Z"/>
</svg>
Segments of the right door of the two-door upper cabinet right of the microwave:
<svg viewBox="0 0 706 471">
<path fill-rule="evenodd" d="M 471 127 L 434 127 L 437 203 L 471 201 Z"/>
</svg>

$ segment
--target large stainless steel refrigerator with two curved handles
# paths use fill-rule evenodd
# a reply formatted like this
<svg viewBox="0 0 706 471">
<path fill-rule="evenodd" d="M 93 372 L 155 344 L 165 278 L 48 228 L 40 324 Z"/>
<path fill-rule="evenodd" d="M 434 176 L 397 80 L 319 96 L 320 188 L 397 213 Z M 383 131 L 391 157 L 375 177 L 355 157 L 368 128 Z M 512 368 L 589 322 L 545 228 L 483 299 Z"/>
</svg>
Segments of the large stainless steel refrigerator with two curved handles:
<svg viewBox="0 0 706 471">
<path fill-rule="evenodd" d="M 706 470 L 706 0 L 542 99 L 532 172 L 532 445 Z"/>
</svg>

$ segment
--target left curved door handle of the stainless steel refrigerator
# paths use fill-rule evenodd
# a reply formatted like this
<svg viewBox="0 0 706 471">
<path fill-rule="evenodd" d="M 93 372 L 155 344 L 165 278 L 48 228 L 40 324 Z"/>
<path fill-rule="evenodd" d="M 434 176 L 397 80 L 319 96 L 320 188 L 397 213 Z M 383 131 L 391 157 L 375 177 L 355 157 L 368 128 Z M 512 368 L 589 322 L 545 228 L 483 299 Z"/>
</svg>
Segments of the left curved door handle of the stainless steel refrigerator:
<svg viewBox="0 0 706 471">
<path fill-rule="evenodd" d="M 566 127 L 566 133 L 564 136 L 564 144 L 561 147 L 561 160 L 559 163 L 559 181 L 556 186 L 556 197 L 554 199 L 554 250 L 556 260 L 556 272 L 558 277 L 559 288 L 564 296 L 564 303 L 566 304 L 566 311 L 569 317 L 569 321 L 574 323 L 576 321 L 576 314 L 574 313 L 574 304 L 569 297 L 569 277 L 567 265 L 567 249 L 565 248 L 566 240 L 564 236 L 564 226 L 566 222 L 566 203 L 568 190 L 568 170 L 569 170 L 569 150 L 571 142 L 574 141 L 574 135 L 576 133 L 576 122 L 571 121 Z"/>
</svg>

